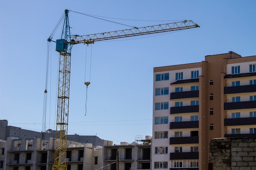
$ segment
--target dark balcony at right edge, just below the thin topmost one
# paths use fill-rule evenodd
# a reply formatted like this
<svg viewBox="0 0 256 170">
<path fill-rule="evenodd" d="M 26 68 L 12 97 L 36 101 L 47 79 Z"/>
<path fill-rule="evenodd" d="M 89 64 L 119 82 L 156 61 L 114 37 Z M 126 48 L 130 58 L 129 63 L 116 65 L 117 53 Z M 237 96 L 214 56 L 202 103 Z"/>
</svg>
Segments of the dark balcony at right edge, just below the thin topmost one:
<svg viewBox="0 0 256 170">
<path fill-rule="evenodd" d="M 224 87 L 224 94 L 256 92 L 256 84 L 246 86 Z"/>
</svg>

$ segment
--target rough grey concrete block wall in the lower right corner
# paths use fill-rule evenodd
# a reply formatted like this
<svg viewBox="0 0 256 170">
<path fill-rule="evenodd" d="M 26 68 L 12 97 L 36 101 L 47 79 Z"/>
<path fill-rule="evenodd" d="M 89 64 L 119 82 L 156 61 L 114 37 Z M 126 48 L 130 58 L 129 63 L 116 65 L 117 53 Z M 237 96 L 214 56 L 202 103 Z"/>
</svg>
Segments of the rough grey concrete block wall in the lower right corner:
<svg viewBox="0 0 256 170">
<path fill-rule="evenodd" d="M 211 139 L 210 169 L 256 170 L 256 138 Z"/>
</svg>

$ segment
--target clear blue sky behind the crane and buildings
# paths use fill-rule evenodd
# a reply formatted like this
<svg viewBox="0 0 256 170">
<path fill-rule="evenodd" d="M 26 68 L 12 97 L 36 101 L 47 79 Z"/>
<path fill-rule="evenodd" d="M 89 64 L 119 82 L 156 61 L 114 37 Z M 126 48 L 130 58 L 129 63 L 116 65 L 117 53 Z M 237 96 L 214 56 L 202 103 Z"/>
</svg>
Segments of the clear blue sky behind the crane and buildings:
<svg viewBox="0 0 256 170">
<path fill-rule="evenodd" d="M 193 20 L 200 28 L 72 48 L 68 133 L 131 143 L 152 135 L 153 68 L 201 62 L 234 51 L 256 55 L 255 0 L 2 0 L 0 1 L 0 119 L 41 131 L 47 38 L 69 9 L 130 26 Z M 120 18 L 128 20 L 117 20 Z M 71 33 L 130 27 L 69 13 Z M 136 21 L 145 20 L 145 21 Z M 156 21 L 152 21 L 156 20 Z M 164 20 L 164 21 L 163 21 Z M 156 34 L 157 35 L 157 34 Z M 59 39 L 58 29 L 53 40 Z M 46 129 L 55 129 L 58 53 L 51 44 Z M 91 50 L 92 49 L 92 50 Z M 85 116 L 85 57 L 92 56 Z M 88 75 L 87 75 L 88 77 Z M 86 79 L 88 81 L 88 78 Z"/>
</svg>

